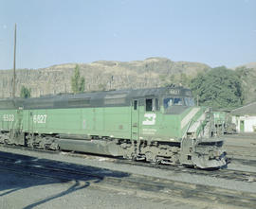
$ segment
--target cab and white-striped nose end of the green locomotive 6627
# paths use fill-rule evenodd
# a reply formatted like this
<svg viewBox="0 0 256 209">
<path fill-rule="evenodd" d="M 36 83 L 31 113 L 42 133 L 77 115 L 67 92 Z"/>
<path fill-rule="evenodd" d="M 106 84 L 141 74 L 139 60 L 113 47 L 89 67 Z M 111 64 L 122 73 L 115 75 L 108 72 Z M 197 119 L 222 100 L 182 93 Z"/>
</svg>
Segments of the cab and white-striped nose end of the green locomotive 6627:
<svg viewBox="0 0 256 209">
<path fill-rule="evenodd" d="M 179 162 L 200 168 L 227 165 L 223 140 L 214 130 L 210 108 L 195 106 L 189 89 L 166 88 L 155 99 L 146 97 L 145 113 L 140 117 L 139 138 L 157 142 L 159 149 L 151 155 L 161 163 Z"/>
</svg>

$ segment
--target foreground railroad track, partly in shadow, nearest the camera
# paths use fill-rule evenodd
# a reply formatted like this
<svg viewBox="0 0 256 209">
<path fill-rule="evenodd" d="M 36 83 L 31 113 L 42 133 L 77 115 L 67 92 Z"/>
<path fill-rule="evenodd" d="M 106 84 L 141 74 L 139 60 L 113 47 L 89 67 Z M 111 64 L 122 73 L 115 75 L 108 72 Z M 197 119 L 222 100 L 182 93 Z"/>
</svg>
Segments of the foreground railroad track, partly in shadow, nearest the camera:
<svg viewBox="0 0 256 209">
<path fill-rule="evenodd" d="M 53 178 L 61 183 L 86 183 L 90 186 L 116 190 L 136 191 L 142 197 L 160 200 L 184 199 L 211 202 L 219 205 L 256 208 L 256 193 L 233 191 L 225 188 L 180 183 L 155 177 L 134 175 L 126 172 L 67 164 L 64 162 L 38 159 L 6 152 L 0 156 L 0 170 L 9 170 L 22 175 Z M 229 208 L 232 208 L 231 206 Z"/>
</svg>

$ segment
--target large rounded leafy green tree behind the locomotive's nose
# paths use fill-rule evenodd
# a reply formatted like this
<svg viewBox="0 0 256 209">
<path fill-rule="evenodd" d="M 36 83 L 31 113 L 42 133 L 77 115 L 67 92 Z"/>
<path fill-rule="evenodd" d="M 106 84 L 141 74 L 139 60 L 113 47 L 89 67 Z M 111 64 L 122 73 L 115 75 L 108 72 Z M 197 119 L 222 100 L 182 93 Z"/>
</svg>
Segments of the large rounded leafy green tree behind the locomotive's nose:
<svg viewBox="0 0 256 209">
<path fill-rule="evenodd" d="M 199 103 L 213 108 L 234 108 L 242 105 L 243 91 L 237 73 L 225 66 L 201 73 L 190 84 L 193 96 Z"/>
</svg>

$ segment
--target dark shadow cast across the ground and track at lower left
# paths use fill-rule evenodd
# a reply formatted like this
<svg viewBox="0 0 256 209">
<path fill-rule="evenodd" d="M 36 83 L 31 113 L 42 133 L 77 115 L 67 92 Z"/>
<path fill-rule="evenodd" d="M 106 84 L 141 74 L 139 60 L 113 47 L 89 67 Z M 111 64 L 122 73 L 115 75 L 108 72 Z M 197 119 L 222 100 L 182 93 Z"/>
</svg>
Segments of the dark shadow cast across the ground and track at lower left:
<svg viewBox="0 0 256 209">
<path fill-rule="evenodd" d="M 7 164 L 5 161 L 15 164 Z M 42 167 L 46 167 L 46 169 L 42 169 Z M 50 168 L 53 168 L 53 171 L 50 172 Z M 58 173 L 59 168 L 62 170 L 65 169 L 65 172 Z M 69 172 L 70 169 L 76 170 L 78 173 L 74 174 L 73 172 Z M 26 193 L 26 189 L 38 185 L 48 185 L 52 183 L 70 184 L 66 190 L 54 195 L 46 195 L 45 199 L 37 197 L 37 201 L 28 204 L 24 209 L 34 208 L 47 201 L 64 197 L 65 195 L 90 186 L 91 183 L 101 183 L 106 177 L 123 178 L 127 176 L 129 176 L 129 174 L 125 172 L 39 159 L 0 151 L 0 199 L 14 194 L 15 192 L 19 192 L 20 190 L 24 190 Z"/>
</svg>

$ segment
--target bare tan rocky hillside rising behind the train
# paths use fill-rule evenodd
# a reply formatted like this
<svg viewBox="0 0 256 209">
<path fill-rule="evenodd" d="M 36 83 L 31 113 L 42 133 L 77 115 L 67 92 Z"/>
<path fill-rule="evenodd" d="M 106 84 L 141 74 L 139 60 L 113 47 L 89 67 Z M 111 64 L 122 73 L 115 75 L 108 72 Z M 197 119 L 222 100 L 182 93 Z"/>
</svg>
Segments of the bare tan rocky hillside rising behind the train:
<svg viewBox="0 0 256 209">
<path fill-rule="evenodd" d="M 54 65 L 42 69 L 20 69 L 16 74 L 16 96 L 24 85 L 31 96 L 70 93 L 70 80 L 76 63 Z M 85 78 L 85 90 L 159 87 L 172 83 L 174 77 L 193 78 L 210 66 L 204 63 L 149 58 L 145 61 L 95 61 L 79 63 Z M 0 71 L 0 97 L 11 96 L 12 72 Z"/>
</svg>

